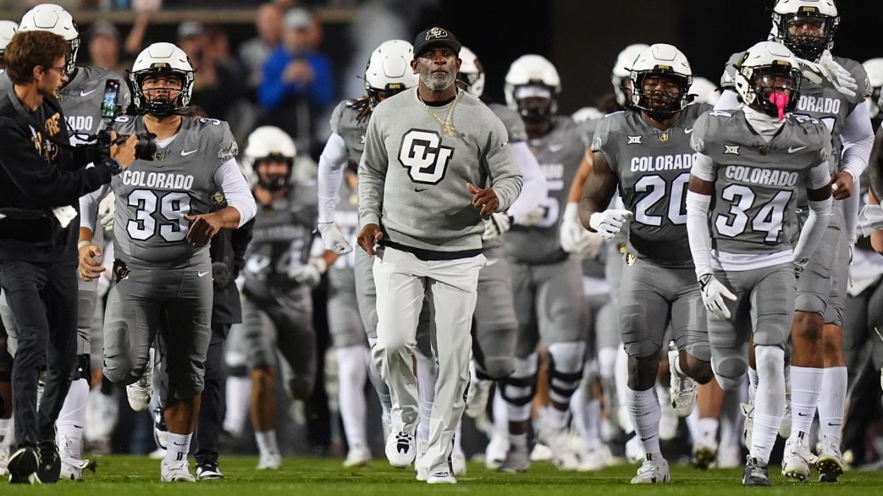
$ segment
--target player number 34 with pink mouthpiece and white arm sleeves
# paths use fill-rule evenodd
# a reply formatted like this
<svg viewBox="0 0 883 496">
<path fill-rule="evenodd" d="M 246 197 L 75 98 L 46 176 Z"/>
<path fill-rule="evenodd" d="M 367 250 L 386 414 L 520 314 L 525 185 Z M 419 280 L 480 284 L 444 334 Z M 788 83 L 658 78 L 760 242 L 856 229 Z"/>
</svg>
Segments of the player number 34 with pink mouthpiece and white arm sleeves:
<svg viewBox="0 0 883 496">
<path fill-rule="evenodd" d="M 785 407 L 795 275 L 804 271 L 830 218 L 831 133 L 819 119 L 791 114 L 801 97 L 801 75 L 784 45 L 758 43 L 735 70 L 742 108 L 706 113 L 693 126 L 698 156 L 687 229 L 708 311 L 713 369 L 725 390 L 741 385 L 748 368 L 743 346 L 753 338 L 758 389 L 743 484 L 769 485 L 766 464 Z M 798 182 L 805 184 L 810 212 L 792 249 Z"/>
</svg>

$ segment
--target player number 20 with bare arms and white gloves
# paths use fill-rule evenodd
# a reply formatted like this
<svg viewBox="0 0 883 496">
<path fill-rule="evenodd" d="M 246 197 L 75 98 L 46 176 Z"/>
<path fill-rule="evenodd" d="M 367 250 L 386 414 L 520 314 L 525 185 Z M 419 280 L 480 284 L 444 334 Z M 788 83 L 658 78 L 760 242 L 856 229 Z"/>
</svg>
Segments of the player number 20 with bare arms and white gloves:
<svg viewBox="0 0 883 496">
<path fill-rule="evenodd" d="M 592 172 L 580 202 L 586 228 L 608 239 L 629 229 L 619 316 L 629 354 L 628 409 L 646 454 L 632 484 L 669 478 L 668 462 L 660 454 L 660 402 L 654 388 L 669 323 L 676 347 L 668 352 L 671 397 L 680 416 L 693 409 L 695 380 L 712 378 L 683 211 L 693 156 L 690 133 L 711 106 L 688 105 L 691 84 L 690 63 L 674 46 L 655 44 L 638 55 L 631 64 L 635 111 L 611 114 L 598 124 Z M 617 185 L 625 209 L 606 208 Z"/>
</svg>

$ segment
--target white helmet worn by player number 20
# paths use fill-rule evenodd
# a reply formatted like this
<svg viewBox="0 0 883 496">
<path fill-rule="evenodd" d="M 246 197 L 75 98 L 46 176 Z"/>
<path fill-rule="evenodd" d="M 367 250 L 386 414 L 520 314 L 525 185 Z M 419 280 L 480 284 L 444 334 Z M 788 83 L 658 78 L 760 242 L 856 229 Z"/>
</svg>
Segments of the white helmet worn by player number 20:
<svg viewBox="0 0 883 496">
<path fill-rule="evenodd" d="M 631 105 L 654 119 L 664 119 L 683 110 L 691 101 L 693 70 L 690 61 L 674 45 L 656 43 L 638 55 L 630 67 Z M 644 89 L 648 77 L 669 78 L 677 82 L 676 94 Z"/>
</svg>

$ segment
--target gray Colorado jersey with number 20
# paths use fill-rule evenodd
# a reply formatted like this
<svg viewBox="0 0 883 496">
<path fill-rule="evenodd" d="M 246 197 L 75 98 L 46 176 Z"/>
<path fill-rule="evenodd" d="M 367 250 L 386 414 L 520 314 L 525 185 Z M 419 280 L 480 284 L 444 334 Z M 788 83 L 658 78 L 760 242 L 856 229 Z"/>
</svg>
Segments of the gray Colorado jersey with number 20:
<svg viewBox="0 0 883 496">
<path fill-rule="evenodd" d="M 688 105 L 666 131 L 636 111 L 605 116 L 592 139 L 619 180 L 623 204 L 634 213 L 629 251 L 664 267 L 692 267 L 686 192 L 695 152 L 690 135 L 711 105 Z"/>
</svg>

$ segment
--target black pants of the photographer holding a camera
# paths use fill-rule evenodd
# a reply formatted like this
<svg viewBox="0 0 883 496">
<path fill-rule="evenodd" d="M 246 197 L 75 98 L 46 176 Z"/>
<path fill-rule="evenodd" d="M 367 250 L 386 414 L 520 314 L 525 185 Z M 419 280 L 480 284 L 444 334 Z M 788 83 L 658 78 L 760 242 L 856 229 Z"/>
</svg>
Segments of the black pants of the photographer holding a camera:
<svg viewBox="0 0 883 496">
<path fill-rule="evenodd" d="M 55 439 L 55 423 L 77 365 L 76 266 L 0 262 L 0 281 L 15 316 L 19 348 L 12 365 L 12 404 L 19 447 Z M 37 379 L 46 368 L 40 411 Z"/>
</svg>

